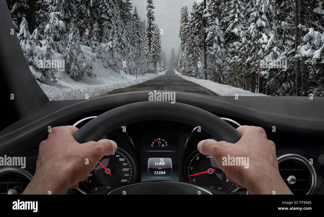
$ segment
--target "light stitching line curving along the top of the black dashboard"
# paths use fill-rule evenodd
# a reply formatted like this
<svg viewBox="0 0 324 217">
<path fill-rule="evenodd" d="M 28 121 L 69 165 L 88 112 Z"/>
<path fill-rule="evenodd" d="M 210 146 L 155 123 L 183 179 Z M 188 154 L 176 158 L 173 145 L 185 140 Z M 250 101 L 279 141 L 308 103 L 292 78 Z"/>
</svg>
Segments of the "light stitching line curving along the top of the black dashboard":
<svg viewBox="0 0 324 217">
<path fill-rule="evenodd" d="M 53 114 L 55 114 L 57 112 L 60 112 L 60 111 L 62 111 L 64 109 L 67 109 L 69 107 L 72 107 L 72 106 L 81 104 L 83 102 L 88 102 L 88 101 L 91 101 L 91 100 L 100 99 L 100 98 L 109 97 L 109 96 L 116 96 L 116 95 L 130 94 L 130 93 L 149 93 L 149 92 L 150 91 L 116 93 L 116 94 L 112 94 L 112 95 L 108 95 L 108 96 L 101 96 L 101 97 L 93 98 L 93 99 L 90 99 L 90 100 L 78 102 L 78 103 L 75 103 L 73 105 L 69 105 L 69 106 L 67 106 L 65 108 L 59 109 L 59 110 L 57 110 L 57 111 L 55 111 L 55 112 L 53 112 L 53 113 L 51 113 L 49 115 L 46 115 L 46 116 L 44 116 L 44 117 L 42 117 L 42 118 L 40 118 L 40 119 L 38 119 L 36 121 L 33 121 L 33 122 L 29 123 L 28 125 L 25 125 L 23 127 L 20 127 L 20 128 L 14 130 L 14 131 L 9 132 L 9 133 L 6 133 L 6 134 L 0 136 L 0 139 L 3 138 L 3 137 L 5 137 L 5 136 L 7 136 L 7 135 L 10 135 L 10 134 L 12 134 L 14 132 L 17 132 L 18 130 L 21 130 L 21 129 L 25 128 L 25 127 L 28 127 L 29 125 L 31 125 L 31 124 L 33 124 L 33 123 L 35 123 L 37 121 L 40 121 L 41 119 L 44 119 L 44 118 L 46 118 L 46 117 L 48 117 L 50 115 L 53 115 Z M 225 102 L 225 101 L 222 101 L 222 100 L 216 100 L 216 99 L 209 98 L 209 97 L 204 97 L 204 96 L 197 96 L 197 95 L 193 95 L 193 94 L 189 94 L 189 93 L 179 93 L 179 92 L 177 92 L 177 94 L 182 94 L 182 95 L 188 95 L 188 96 L 195 96 L 195 97 L 201 97 L 201 98 L 205 98 L 205 99 L 210 99 L 210 100 L 214 100 L 214 101 L 217 101 L 217 102 L 223 102 L 223 103 L 226 103 L 226 104 L 238 106 L 238 107 L 245 108 L 245 109 L 249 109 L 249 110 L 256 111 L 256 112 L 261 112 L 261 113 L 268 114 L 268 115 L 275 115 L 275 116 L 279 116 L 279 117 L 287 117 L 287 118 L 301 119 L 301 120 L 308 120 L 308 121 L 324 121 L 324 119 L 321 119 L 321 118 L 303 118 L 303 117 L 295 117 L 295 116 L 289 116 L 289 115 L 279 115 L 279 114 L 275 114 L 275 113 L 271 113 L 271 112 L 264 112 L 264 111 L 260 111 L 260 110 L 257 110 L 257 109 L 252 109 L 252 108 L 249 108 L 249 107 L 245 107 L 245 106 L 242 106 L 242 105 L 237 105 L 237 104 L 234 104 L 234 103 L 231 103 L 231 102 Z"/>
</svg>

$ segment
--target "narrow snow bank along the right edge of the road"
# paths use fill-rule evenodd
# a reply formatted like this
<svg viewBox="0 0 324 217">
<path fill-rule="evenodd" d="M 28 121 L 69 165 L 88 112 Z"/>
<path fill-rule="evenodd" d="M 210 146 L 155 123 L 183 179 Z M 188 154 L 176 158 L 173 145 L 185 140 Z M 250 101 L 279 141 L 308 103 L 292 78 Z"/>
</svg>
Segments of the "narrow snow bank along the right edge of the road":
<svg viewBox="0 0 324 217">
<path fill-rule="evenodd" d="M 176 75 L 180 76 L 181 78 L 191 81 L 195 84 L 199 84 L 200 86 L 207 88 L 208 90 L 211 90 L 214 93 L 217 93 L 219 96 L 235 96 L 236 93 L 239 96 L 267 96 L 262 93 L 252 93 L 248 90 L 243 90 L 225 84 L 219 84 L 210 80 L 203 80 L 203 79 L 188 77 L 185 75 L 180 75 L 180 73 L 176 69 L 174 69 L 174 72 L 176 73 Z"/>
</svg>

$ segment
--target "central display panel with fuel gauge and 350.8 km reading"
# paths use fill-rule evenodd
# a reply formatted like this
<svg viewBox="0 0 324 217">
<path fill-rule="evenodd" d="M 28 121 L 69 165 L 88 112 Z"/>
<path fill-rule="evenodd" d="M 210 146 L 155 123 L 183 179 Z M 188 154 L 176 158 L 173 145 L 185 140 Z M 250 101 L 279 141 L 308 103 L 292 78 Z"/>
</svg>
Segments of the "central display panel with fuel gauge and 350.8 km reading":
<svg viewBox="0 0 324 217">
<path fill-rule="evenodd" d="M 141 137 L 141 181 L 179 181 L 179 136 L 145 134 Z"/>
</svg>

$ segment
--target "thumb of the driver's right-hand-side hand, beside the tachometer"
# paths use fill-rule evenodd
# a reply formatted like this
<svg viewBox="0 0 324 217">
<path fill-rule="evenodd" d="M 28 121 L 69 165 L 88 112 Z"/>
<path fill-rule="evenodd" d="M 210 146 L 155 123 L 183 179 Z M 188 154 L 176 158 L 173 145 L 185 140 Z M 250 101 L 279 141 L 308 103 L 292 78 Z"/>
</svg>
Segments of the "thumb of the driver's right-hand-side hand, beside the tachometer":
<svg viewBox="0 0 324 217">
<path fill-rule="evenodd" d="M 218 159 L 224 156 L 223 151 L 226 150 L 224 146 L 226 146 L 227 144 L 230 143 L 227 143 L 225 141 L 217 142 L 214 139 L 206 139 L 200 141 L 197 148 L 202 154 L 212 156 L 217 162 Z"/>
</svg>

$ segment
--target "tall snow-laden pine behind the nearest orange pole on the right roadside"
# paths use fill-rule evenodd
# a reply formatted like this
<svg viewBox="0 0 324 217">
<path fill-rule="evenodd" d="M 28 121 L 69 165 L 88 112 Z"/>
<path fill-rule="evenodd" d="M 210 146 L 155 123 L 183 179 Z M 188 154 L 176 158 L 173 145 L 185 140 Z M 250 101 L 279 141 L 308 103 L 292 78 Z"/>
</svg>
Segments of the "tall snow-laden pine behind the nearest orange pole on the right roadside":
<svg viewBox="0 0 324 217">
<path fill-rule="evenodd" d="M 238 80 L 238 87 L 257 92 L 260 59 L 276 60 L 280 55 L 277 46 L 275 9 L 270 0 L 249 0 L 249 29 L 245 32 L 247 42 L 242 46 L 233 70 L 244 72 Z M 233 61 L 233 60 L 232 60 Z M 260 92 L 266 94 L 268 69 L 260 71 Z"/>
</svg>

